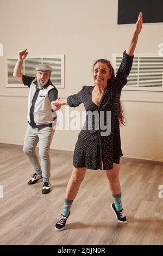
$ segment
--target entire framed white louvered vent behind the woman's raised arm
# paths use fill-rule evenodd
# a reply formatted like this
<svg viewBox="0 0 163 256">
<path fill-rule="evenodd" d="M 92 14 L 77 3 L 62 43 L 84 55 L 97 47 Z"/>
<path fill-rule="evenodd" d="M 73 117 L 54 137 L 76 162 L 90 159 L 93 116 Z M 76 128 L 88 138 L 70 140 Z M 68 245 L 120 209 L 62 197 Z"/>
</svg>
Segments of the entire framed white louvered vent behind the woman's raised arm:
<svg viewBox="0 0 163 256">
<path fill-rule="evenodd" d="M 115 71 L 122 61 L 122 55 L 113 54 Z M 163 91 L 163 57 L 154 55 L 134 56 L 133 66 L 123 90 Z"/>
</svg>

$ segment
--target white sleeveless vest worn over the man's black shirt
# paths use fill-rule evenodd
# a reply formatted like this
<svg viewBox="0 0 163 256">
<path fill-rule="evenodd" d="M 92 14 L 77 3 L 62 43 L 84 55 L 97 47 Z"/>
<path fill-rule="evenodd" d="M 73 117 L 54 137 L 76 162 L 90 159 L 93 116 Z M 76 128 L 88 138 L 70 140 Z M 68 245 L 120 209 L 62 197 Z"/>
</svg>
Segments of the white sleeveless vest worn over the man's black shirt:
<svg viewBox="0 0 163 256">
<path fill-rule="evenodd" d="M 36 85 L 34 82 L 36 79 L 32 82 L 32 84 L 29 87 L 29 97 L 28 97 L 28 122 L 30 123 L 30 107 L 32 106 L 32 100 L 34 97 L 34 94 L 36 92 Z M 47 123 L 53 123 L 54 121 L 54 114 L 52 112 L 52 106 L 51 102 L 48 97 L 48 92 L 55 88 L 53 85 L 49 85 L 48 87 L 42 88 L 39 91 L 38 97 L 36 99 L 35 105 L 34 105 L 34 122 L 36 126 L 40 126 L 42 124 Z"/>
</svg>

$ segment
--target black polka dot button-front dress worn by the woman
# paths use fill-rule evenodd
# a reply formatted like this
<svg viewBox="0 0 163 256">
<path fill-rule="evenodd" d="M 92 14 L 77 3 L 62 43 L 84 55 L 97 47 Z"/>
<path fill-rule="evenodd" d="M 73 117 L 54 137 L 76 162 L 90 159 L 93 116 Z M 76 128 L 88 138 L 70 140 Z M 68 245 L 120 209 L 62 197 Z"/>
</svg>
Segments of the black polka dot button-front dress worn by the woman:
<svg viewBox="0 0 163 256">
<path fill-rule="evenodd" d="M 92 90 L 94 86 L 83 86 L 82 90 L 69 96 L 67 103 L 69 106 L 76 107 L 83 103 L 86 109 L 86 123 L 79 133 L 76 147 L 73 156 L 73 165 L 76 168 L 87 168 L 92 170 L 103 169 L 110 170 L 113 168 L 113 163 L 120 163 L 120 157 L 123 156 L 121 150 L 120 124 L 118 120 L 118 105 L 120 102 L 121 91 L 124 85 L 127 84 L 127 76 L 130 73 L 134 56 L 127 55 L 123 52 L 123 59 L 118 69 L 115 79 L 110 80 L 103 97 L 96 105 L 92 102 Z M 100 128 L 96 128 L 96 117 L 93 118 L 93 128 L 89 128 L 90 113 L 101 112 L 105 116 L 111 111 L 111 130 L 109 135 L 105 135 Z M 97 122 L 96 122 L 97 121 Z M 107 127 L 109 130 L 109 127 Z M 104 134 L 104 135 L 103 135 Z"/>
</svg>

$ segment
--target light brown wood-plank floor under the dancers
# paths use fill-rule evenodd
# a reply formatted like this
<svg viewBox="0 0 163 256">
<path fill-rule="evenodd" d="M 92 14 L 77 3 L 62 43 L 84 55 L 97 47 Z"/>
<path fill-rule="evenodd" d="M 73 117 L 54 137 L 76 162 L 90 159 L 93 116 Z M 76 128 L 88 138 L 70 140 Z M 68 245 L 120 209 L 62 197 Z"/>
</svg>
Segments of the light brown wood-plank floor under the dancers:
<svg viewBox="0 0 163 256">
<path fill-rule="evenodd" d="M 121 160 L 122 204 L 128 224 L 117 224 L 104 171 L 87 170 L 66 229 L 54 230 L 60 215 L 73 152 L 51 151 L 52 192 L 42 181 L 28 185 L 33 170 L 22 146 L 0 144 L 1 245 L 162 245 L 163 166 Z M 163 194 L 163 193 L 162 193 Z"/>
</svg>

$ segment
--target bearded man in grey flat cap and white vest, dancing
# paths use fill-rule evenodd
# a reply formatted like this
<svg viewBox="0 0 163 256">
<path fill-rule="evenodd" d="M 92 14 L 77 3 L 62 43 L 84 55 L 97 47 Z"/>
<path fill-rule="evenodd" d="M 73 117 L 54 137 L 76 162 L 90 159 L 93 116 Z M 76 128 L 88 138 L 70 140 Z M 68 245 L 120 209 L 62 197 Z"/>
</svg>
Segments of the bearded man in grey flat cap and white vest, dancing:
<svg viewBox="0 0 163 256">
<path fill-rule="evenodd" d="M 52 103 L 58 98 L 58 91 L 50 80 L 52 68 L 47 64 L 36 66 L 36 76 L 21 74 L 23 60 L 27 57 L 27 49 L 18 53 L 18 61 L 14 68 L 14 77 L 29 87 L 28 97 L 28 127 L 24 139 L 23 151 L 32 164 L 35 173 L 28 181 L 34 184 L 43 178 L 42 193 L 51 191 L 49 177 L 51 176 L 51 161 L 49 148 L 54 135 L 54 110 Z M 53 113 L 54 112 L 54 113 Z M 39 158 L 35 147 L 39 142 Z"/>
</svg>

